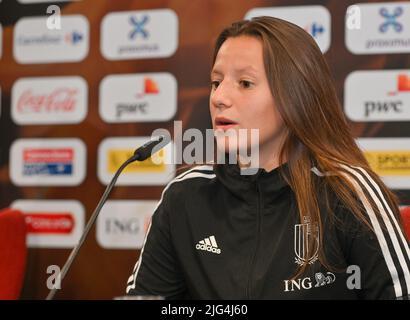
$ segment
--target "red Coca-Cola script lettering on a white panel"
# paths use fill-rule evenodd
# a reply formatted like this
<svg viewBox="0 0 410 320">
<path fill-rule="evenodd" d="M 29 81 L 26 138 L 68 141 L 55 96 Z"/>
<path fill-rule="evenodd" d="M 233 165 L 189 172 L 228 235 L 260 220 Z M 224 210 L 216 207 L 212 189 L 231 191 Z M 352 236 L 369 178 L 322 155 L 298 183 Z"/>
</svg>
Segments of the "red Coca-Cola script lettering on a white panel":
<svg viewBox="0 0 410 320">
<path fill-rule="evenodd" d="M 49 94 L 35 94 L 25 90 L 17 101 L 17 110 L 24 112 L 72 112 L 77 104 L 78 90 L 57 88 Z"/>
</svg>

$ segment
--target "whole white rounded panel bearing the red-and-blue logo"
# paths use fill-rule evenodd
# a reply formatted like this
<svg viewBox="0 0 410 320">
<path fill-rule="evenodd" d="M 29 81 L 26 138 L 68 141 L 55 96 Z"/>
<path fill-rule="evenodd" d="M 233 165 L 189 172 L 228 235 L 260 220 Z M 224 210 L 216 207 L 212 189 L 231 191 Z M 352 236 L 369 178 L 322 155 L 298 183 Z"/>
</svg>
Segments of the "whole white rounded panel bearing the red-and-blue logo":
<svg viewBox="0 0 410 320">
<path fill-rule="evenodd" d="M 10 178 L 18 186 L 74 186 L 85 178 L 79 139 L 18 139 L 11 146 Z"/>
</svg>

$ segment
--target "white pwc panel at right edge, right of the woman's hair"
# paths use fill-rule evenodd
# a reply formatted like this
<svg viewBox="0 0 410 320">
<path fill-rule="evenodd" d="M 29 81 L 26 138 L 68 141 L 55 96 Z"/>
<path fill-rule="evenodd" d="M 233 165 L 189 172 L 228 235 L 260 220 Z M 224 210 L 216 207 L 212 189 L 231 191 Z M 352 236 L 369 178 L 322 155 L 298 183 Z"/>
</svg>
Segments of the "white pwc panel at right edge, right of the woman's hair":
<svg viewBox="0 0 410 320">
<path fill-rule="evenodd" d="M 410 70 L 352 72 L 344 108 L 353 121 L 410 120 Z"/>
</svg>

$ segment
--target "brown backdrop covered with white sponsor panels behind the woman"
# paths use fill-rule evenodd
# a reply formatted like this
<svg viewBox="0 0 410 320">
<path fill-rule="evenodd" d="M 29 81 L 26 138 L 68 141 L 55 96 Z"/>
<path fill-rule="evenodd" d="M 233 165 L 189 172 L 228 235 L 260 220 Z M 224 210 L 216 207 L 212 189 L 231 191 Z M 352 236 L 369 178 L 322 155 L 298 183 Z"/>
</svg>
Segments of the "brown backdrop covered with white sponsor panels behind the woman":
<svg viewBox="0 0 410 320">
<path fill-rule="evenodd" d="M 47 13 L 51 2 L 57 7 Z M 22 298 L 45 298 L 47 267 L 62 267 L 115 170 L 155 129 L 173 133 L 175 120 L 183 130 L 211 127 L 215 38 L 258 15 L 314 37 L 358 144 L 410 204 L 410 3 L 3 0 L 0 207 L 26 215 Z M 173 139 L 162 159 L 181 137 Z M 179 168 L 171 162 L 124 171 L 58 299 L 125 293 L 161 191 Z"/>
</svg>

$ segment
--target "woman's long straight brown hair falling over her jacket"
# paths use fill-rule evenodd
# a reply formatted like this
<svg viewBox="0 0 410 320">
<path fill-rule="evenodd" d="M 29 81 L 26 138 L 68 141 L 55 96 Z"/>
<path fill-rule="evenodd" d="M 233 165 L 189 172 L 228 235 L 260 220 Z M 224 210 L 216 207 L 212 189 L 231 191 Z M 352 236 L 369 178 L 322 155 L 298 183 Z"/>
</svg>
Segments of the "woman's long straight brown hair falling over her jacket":
<svg viewBox="0 0 410 320">
<path fill-rule="evenodd" d="M 328 65 L 314 39 L 302 28 L 278 18 L 256 17 L 236 22 L 217 38 L 212 65 L 224 41 L 238 36 L 256 37 L 262 42 L 266 75 L 287 130 L 279 161 L 288 164 L 288 174 L 282 174 L 295 193 L 300 220 L 307 216 L 319 227 L 319 237 L 323 239 L 317 195 L 323 195 L 326 207 L 330 209 L 326 193 L 322 192 L 329 190 L 360 222 L 372 229 L 348 176 L 352 176 L 349 168 L 360 167 L 379 185 L 396 218 L 401 221 L 396 196 L 372 171 L 352 137 Z M 321 179 L 323 184 L 318 185 L 311 174 L 312 167 L 332 174 L 325 175 Z M 380 215 L 372 197 L 367 198 L 374 212 Z M 327 212 L 335 220 L 332 210 Z M 309 238 L 309 254 L 318 250 L 320 262 L 331 269 L 322 241 L 319 243 L 318 248 L 314 237 Z M 307 266 L 305 261 L 296 276 Z"/>
</svg>

